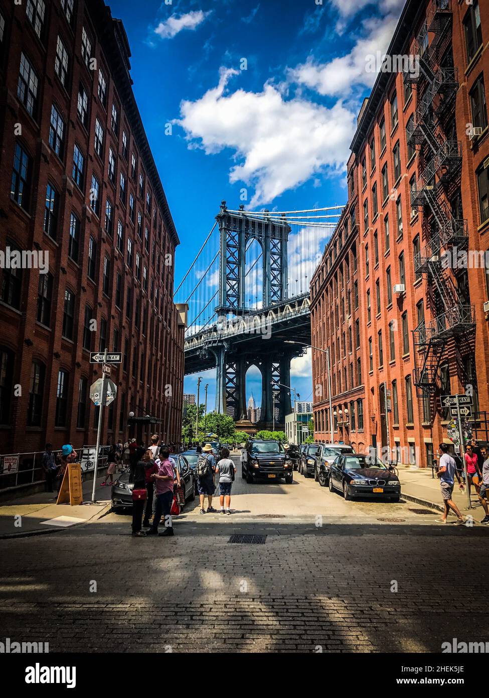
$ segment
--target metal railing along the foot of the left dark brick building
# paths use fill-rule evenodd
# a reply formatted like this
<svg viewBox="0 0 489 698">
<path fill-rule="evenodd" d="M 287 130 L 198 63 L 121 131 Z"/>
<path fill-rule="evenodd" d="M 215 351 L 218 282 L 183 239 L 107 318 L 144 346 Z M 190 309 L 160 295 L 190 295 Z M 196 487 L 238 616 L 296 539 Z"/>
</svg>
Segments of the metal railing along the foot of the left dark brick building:
<svg viewBox="0 0 489 698">
<path fill-rule="evenodd" d="M 100 446 L 98 465 L 105 466 L 109 446 Z M 82 463 L 82 472 L 93 470 L 95 464 L 96 446 L 75 447 L 78 460 Z M 45 473 L 42 459 L 44 451 L 27 453 L 8 453 L 0 455 L 0 490 L 8 487 L 21 487 L 25 484 L 43 482 Z M 54 456 L 61 451 L 53 451 Z"/>
</svg>

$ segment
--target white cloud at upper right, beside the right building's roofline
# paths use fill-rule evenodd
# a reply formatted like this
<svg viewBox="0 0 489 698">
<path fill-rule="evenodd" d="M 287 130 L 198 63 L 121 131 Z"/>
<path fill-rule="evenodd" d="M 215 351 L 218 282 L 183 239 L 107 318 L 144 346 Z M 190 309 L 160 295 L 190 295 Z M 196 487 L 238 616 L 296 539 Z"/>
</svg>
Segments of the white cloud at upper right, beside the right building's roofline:
<svg viewBox="0 0 489 698">
<path fill-rule="evenodd" d="M 328 63 L 319 63 L 310 57 L 306 63 L 288 70 L 289 80 L 327 96 L 347 96 L 355 85 L 373 87 L 377 73 L 367 72 L 367 58 L 375 56 L 377 51 L 387 50 L 396 24 L 392 16 L 366 20 L 363 24 L 366 36 L 360 38 L 348 54 Z"/>
</svg>

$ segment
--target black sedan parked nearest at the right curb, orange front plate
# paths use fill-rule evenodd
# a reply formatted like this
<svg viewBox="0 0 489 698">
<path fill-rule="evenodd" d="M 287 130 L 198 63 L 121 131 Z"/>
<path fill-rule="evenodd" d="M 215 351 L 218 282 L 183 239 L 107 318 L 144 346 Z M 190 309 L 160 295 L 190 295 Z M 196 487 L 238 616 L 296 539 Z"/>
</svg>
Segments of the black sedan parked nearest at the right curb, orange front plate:
<svg viewBox="0 0 489 698">
<path fill-rule="evenodd" d="M 356 497 L 400 500 L 400 482 L 375 456 L 345 454 L 329 468 L 329 491 L 338 489 L 345 500 Z"/>
</svg>

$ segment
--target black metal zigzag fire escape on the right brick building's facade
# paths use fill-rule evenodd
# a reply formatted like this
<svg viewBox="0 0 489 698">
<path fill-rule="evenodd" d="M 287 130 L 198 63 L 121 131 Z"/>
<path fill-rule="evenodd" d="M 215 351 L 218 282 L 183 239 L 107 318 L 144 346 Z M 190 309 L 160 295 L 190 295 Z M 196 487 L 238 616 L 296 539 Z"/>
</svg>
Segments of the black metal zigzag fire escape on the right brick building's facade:
<svg viewBox="0 0 489 698">
<path fill-rule="evenodd" d="M 453 115 L 458 90 L 456 68 L 439 65 L 442 51 L 451 38 L 451 1 L 432 0 L 426 23 L 416 38 L 413 54 L 419 56 L 419 71 L 405 72 L 405 82 L 416 84 L 414 122 L 407 129 L 411 146 L 421 146 L 423 169 L 411 191 L 413 209 L 423 215 L 428 243 L 414 256 L 416 274 L 428 277 L 428 294 L 437 299 L 435 316 L 414 329 L 414 385 L 419 396 L 435 392 L 439 364 L 446 343 L 465 334 L 474 325 L 472 306 L 462 304 L 450 263 L 453 248 L 466 250 L 467 221 L 454 218 L 446 205 L 446 191 L 460 176 L 460 142 L 444 133 Z M 431 42 L 429 37 L 432 36 Z"/>
</svg>

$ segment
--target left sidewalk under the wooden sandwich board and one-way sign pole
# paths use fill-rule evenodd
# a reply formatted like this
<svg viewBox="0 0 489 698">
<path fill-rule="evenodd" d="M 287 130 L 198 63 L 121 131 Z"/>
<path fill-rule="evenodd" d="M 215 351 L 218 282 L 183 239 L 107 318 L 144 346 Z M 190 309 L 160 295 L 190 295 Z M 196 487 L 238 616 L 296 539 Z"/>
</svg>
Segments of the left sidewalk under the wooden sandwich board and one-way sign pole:
<svg viewBox="0 0 489 698">
<path fill-rule="evenodd" d="M 100 487 L 104 476 L 97 479 L 96 500 L 89 504 L 93 480 L 83 483 L 84 503 L 75 507 L 56 503 L 56 493 L 38 492 L 0 505 L 0 538 L 52 533 L 54 530 L 78 526 L 100 518 L 110 508 L 110 487 Z"/>
</svg>

